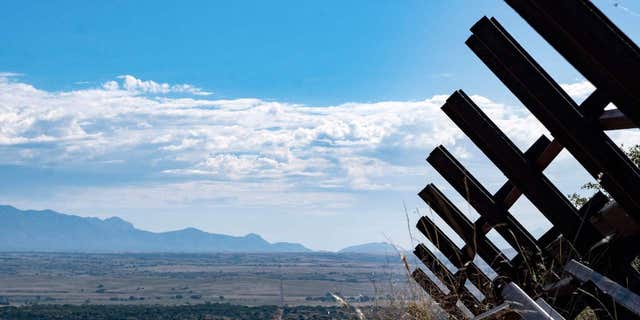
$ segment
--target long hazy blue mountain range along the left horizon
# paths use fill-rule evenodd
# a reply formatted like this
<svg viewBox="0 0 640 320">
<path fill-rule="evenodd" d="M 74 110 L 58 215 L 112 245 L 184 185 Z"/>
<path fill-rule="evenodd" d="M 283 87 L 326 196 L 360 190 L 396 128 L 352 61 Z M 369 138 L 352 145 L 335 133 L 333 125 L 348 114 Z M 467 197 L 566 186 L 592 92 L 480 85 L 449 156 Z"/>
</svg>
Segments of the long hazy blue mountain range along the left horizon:
<svg viewBox="0 0 640 320">
<path fill-rule="evenodd" d="M 269 243 L 257 234 L 235 237 L 194 228 L 136 229 L 120 218 L 85 218 L 51 210 L 0 206 L 0 251 L 56 252 L 307 252 L 297 243 Z"/>
</svg>

